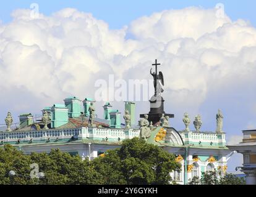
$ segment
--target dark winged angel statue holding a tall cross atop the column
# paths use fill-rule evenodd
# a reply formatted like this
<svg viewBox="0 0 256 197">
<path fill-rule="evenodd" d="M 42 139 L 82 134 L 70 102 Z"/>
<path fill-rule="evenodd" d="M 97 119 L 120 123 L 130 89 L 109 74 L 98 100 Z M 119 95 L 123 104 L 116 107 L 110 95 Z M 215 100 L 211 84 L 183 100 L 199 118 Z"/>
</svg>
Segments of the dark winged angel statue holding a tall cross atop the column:
<svg viewBox="0 0 256 197">
<path fill-rule="evenodd" d="M 164 79 L 163 79 L 163 73 L 160 71 L 159 74 L 157 73 L 157 66 L 160 66 L 160 63 L 157 63 L 157 60 L 155 60 L 155 63 L 152 64 L 152 66 L 155 66 L 155 72 L 152 73 L 152 68 L 150 70 L 150 74 L 153 76 L 154 79 L 154 87 L 155 87 L 155 96 L 158 94 L 161 94 L 164 86 Z"/>
</svg>

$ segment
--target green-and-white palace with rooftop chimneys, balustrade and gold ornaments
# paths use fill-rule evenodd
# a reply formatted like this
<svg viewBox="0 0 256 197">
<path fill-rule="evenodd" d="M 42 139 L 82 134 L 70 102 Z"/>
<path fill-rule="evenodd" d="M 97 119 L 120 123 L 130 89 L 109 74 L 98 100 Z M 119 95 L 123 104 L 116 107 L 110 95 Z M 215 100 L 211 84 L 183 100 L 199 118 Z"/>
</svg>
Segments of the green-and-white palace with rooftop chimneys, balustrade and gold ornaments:
<svg viewBox="0 0 256 197">
<path fill-rule="evenodd" d="M 190 131 L 187 113 L 184 117 L 184 130 L 169 127 L 168 121 L 164 121 L 164 115 L 155 124 L 142 118 L 137 125 L 135 103 L 125 102 L 126 124 L 122 124 L 121 112 L 114 110 L 109 102 L 103 106 L 103 118 L 95 118 L 93 103 L 91 98 L 81 101 L 77 97 L 69 97 L 64 103 L 44 108 L 41 121 L 35 121 L 31 114 L 20 115 L 19 127 L 12 129 L 12 116 L 8 113 L 7 129 L 0 132 L 0 147 L 9 143 L 26 154 L 49 153 L 52 148 L 59 148 L 91 160 L 107 150 L 121 147 L 122 140 L 142 137 L 142 131 L 146 129 L 149 131 L 145 138 L 147 143 L 174 153 L 176 161 L 181 163 L 181 172 L 172 173 L 177 183 L 187 184 L 190 179 L 200 177 L 205 171 L 221 171 L 222 175 L 226 173 L 227 155 L 231 151 L 226 147 L 225 134 L 219 131 L 200 131 L 200 116 L 194 121 L 196 131 Z M 147 121 L 148 124 L 142 125 L 142 122 Z"/>
</svg>

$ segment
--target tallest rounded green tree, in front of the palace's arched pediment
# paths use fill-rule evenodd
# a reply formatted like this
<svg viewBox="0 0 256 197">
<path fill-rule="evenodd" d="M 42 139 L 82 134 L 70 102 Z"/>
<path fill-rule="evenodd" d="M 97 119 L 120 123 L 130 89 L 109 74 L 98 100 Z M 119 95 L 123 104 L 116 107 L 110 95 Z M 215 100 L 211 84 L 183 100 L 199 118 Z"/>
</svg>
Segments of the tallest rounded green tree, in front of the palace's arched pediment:
<svg viewBox="0 0 256 197">
<path fill-rule="evenodd" d="M 169 184 L 170 172 L 180 170 L 175 156 L 135 137 L 124 140 L 121 148 L 92 161 L 105 184 Z"/>
</svg>

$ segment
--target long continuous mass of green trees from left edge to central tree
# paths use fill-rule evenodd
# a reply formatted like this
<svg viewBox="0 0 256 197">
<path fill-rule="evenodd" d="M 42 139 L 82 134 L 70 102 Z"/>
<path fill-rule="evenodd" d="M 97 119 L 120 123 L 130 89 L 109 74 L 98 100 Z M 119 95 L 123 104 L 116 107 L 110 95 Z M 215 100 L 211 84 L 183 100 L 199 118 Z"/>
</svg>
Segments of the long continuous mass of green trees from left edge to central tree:
<svg viewBox="0 0 256 197">
<path fill-rule="evenodd" d="M 93 161 L 60 150 L 24 155 L 11 145 L 0 149 L 0 184 L 35 184 L 30 179 L 30 164 L 45 173 L 40 184 L 169 184 L 170 172 L 179 170 L 175 156 L 162 148 L 134 138 L 121 148 L 109 150 Z M 9 171 L 19 176 L 9 177 Z"/>
</svg>

